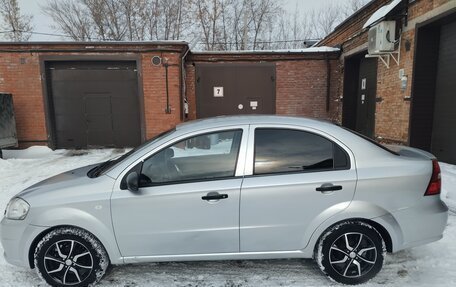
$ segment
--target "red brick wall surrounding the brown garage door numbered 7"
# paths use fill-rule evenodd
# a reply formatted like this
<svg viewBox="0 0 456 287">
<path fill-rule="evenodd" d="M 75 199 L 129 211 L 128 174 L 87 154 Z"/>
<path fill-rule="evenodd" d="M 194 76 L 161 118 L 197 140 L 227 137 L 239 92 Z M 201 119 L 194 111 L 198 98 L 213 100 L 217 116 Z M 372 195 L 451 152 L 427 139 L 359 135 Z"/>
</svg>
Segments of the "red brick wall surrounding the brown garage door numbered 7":
<svg viewBox="0 0 456 287">
<path fill-rule="evenodd" d="M 331 88 L 330 110 L 326 111 L 327 60 L 329 57 Z M 335 53 L 275 54 L 192 54 L 186 61 L 186 96 L 189 119 L 196 118 L 195 63 L 272 62 L 276 66 L 276 114 L 338 118 L 337 92 L 340 69 Z"/>
</svg>

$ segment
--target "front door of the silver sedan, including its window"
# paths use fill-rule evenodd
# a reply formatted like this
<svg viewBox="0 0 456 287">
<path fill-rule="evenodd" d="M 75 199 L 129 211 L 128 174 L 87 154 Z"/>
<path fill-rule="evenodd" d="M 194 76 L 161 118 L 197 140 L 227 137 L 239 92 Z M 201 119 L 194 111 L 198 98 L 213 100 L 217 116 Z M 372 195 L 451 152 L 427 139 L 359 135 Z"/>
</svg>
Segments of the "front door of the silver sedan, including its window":
<svg viewBox="0 0 456 287">
<path fill-rule="evenodd" d="M 111 199 L 122 256 L 239 252 L 246 130 L 181 136 L 132 165 L 138 192 L 118 184 Z"/>
</svg>

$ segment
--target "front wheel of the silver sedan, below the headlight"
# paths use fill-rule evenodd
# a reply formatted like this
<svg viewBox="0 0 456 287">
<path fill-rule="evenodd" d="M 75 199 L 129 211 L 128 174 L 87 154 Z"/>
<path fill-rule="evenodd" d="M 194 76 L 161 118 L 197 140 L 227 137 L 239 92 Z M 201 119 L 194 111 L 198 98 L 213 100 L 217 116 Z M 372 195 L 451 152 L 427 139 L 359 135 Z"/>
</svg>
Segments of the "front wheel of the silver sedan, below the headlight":
<svg viewBox="0 0 456 287">
<path fill-rule="evenodd" d="M 91 233 L 74 227 L 52 230 L 38 243 L 34 262 L 51 286 L 93 286 L 110 265 L 108 254 Z"/>
</svg>

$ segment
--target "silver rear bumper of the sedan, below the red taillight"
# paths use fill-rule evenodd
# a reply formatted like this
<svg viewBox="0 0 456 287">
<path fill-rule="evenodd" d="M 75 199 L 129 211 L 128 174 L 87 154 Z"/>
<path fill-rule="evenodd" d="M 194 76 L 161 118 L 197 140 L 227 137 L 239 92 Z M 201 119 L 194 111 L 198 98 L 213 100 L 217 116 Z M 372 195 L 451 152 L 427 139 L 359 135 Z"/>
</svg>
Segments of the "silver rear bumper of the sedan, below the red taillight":
<svg viewBox="0 0 456 287">
<path fill-rule="evenodd" d="M 420 204 L 391 215 L 378 219 L 391 221 L 394 218 L 395 233 L 399 233 L 393 238 L 393 252 L 396 252 L 441 239 L 448 221 L 448 207 L 437 196 L 424 197 Z"/>
</svg>

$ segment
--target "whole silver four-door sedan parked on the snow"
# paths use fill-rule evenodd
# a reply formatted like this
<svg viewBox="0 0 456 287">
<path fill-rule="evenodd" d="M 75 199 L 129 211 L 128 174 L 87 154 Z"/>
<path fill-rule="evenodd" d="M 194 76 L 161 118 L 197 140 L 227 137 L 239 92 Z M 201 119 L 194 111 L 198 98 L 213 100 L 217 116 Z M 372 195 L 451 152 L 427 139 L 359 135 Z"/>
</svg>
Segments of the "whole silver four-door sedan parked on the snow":
<svg viewBox="0 0 456 287">
<path fill-rule="evenodd" d="M 54 286 L 95 284 L 110 264 L 271 258 L 358 284 L 386 252 L 442 238 L 440 185 L 418 149 L 306 118 L 218 117 L 27 188 L 1 241 Z"/>
</svg>

